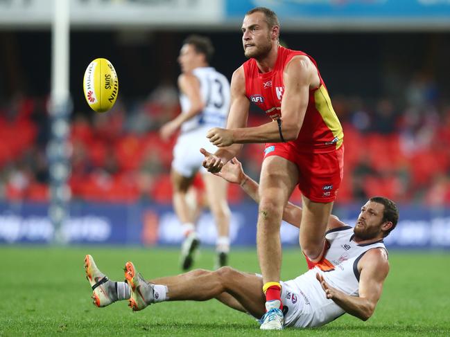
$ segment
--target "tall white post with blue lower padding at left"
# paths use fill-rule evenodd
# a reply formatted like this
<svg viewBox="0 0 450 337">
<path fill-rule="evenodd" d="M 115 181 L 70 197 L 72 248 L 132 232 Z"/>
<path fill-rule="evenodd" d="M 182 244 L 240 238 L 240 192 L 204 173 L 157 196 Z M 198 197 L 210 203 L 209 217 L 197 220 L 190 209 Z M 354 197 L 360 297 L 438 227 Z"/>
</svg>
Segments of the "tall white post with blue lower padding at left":
<svg viewBox="0 0 450 337">
<path fill-rule="evenodd" d="M 50 192 L 49 217 L 53 224 L 55 244 L 64 244 L 64 224 L 68 216 L 70 190 L 67 178 L 70 172 L 69 114 L 72 104 L 69 93 L 69 0 L 53 0 L 51 26 L 51 138 L 47 147 L 49 158 Z"/>
</svg>

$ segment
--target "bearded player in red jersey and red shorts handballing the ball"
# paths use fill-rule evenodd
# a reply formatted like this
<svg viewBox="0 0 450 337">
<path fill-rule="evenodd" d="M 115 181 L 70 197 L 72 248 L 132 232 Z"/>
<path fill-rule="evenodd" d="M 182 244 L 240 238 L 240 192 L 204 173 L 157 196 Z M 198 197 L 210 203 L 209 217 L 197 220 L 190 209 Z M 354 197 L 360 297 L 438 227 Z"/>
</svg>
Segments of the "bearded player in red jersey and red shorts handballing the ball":
<svg viewBox="0 0 450 337">
<path fill-rule="evenodd" d="M 313 264 L 325 247 L 324 233 L 343 177 L 343 129 L 331 105 L 318 66 L 309 55 L 279 45 L 277 15 L 268 8 L 247 12 L 242 24 L 245 56 L 232 77 L 227 129 L 209 130 L 220 147 L 205 149 L 203 166 L 219 172 L 244 143 L 266 143 L 261 167 L 257 251 L 267 306 L 282 313 L 279 275 L 282 247 L 279 229 L 284 207 L 296 185 L 302 192 L 300 246 Z M 272 122 L 246 127 L 250 102 Z M 281 329 L 263 322 L 261 329 Z"/>
</svg>

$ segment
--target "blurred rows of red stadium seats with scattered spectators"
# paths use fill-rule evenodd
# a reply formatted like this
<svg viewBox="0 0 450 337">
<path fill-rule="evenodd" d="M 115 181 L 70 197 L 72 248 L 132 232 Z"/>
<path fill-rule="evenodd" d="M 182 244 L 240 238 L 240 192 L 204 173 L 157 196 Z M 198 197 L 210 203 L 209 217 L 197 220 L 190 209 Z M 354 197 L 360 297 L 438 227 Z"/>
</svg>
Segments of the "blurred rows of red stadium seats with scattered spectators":
<svg viewBox="0 0 450 337">
<path fill-rule="evenodd" d="M 33 116 L 33 100 L 24 100 L 14 113 L 0 115 L 0 176 L 3 199 L 10 201 L 48 201 L 48 181 L 37 179 L 33 167 L 35 151 L 42 133 Z M 446 111 L 450 116 L 450 111 Z M 450 204 L 445 188 L 436 181 L 450 172 L 450 117 L 442 113 L 442 123 L 435 129 L 428 145 L 412 148 L 401 130 L 391 134 L 358 129 L 349 119 L 343 120 L 345 131 L 345 175 L 337 203 L 351 203 L 373 194 L 398 201 L 426 200 Z M 6 118 L 11 115 L 12 118 Z M 164 122 L 162 118 L 155 118 Z M 76 115 L 71 123 L 72 172 L 69 186 L 73 199 L 103 202 L 135 202 L 149 199 L 171 203 L 169 171 L 176 136 L 168 142 L 159 138 L 158 126 L 144 134 L 127 131 L 124 111 L 95 115 L 93 120 Z M 266 122 L 260 111 L 250 113 L 248 125 Z M 17 130 L 20 136 L 17 137 Z M 408 131 L 408 137 L 411 132 Z M 408 147 L 409 146 L 409 147 Z M 30 151 L 30 149 L 34 149 Z M 244 167 L 256 170 L 263 161 L 262 144 L 246 144 L 239 159 Z M 250 172 L 251 172 L 250 170 Z M 0 181 L 1 183 L 1 181 Z M 357 183 L 357 185 L 355 185 Z M 447 184 L 444 184 L 447 186 Z M 197 186 L 202 190 L 201 184 Z M 433 198 L 432 191 L 440 197 Z M 245 200 L 237 185 L 230 185 L 231 203 Z M 295 191 L 291 200 L 300 203 Z"/>
</svg>

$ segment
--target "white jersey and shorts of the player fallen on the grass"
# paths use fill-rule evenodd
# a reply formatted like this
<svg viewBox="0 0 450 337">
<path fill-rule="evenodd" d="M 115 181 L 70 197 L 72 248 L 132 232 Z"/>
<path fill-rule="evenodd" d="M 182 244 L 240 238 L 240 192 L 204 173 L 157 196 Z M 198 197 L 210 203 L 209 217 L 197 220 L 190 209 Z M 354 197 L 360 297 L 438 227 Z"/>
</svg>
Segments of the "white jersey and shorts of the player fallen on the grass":
<svg viewBox="0 0 450 337">
<path fill-rule="evenodd" d="M 316 273 L 323 275 L 330 286 L 348 295 L 358 296 L 359 260 L 370 249 L 386 247 L 383 240 L 372 244 L 357 244 L 353 237 L 351 226 L 329 230 L 325 235 L 329 249 L 322 260 L 294 280 L 283 282 L 286 290 L 282 293 L 282 300 L 288 307 L 286 325 L 319 327 L 345 313 L 333 300 L 326 298 L 320 282 L 315 278 Z"/>
</svg>

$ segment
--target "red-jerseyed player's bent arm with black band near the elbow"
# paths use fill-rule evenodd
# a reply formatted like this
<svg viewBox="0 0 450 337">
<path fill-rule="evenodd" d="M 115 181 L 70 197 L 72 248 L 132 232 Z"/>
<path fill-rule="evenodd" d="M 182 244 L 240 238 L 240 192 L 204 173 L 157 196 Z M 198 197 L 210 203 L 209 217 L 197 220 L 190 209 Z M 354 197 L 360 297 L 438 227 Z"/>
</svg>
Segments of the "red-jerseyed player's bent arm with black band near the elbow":
<svg viewBox="0 0 450 337">
<path fill-rule="evenodd" d="M 306 56 L 295 56 L 284 69 L 284 95 L 282 98 L 282 134 L 284 140 L 297 139 L 308 107 L 309 89 L 318 81 L 317 69 Z M 245 85 L 245 82 L 244 82 Z M 237 127 L 237 128 L 236 128 Z M 228 126 L 227 131 L 210 130 L 209 140 L 218 147 L 244 143 L 281 142 L 277 122 L 258 127 Z"/>
</svg>

